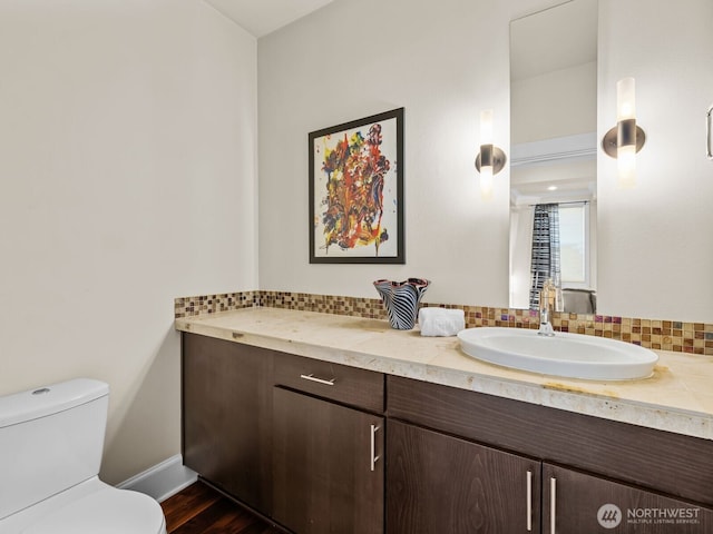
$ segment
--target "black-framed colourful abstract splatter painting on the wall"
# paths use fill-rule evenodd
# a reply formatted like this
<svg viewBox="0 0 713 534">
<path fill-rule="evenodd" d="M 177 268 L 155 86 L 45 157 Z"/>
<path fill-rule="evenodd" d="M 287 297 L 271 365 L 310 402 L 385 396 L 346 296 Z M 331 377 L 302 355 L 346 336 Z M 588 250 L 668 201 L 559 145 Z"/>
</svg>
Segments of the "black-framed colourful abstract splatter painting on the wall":
<svg viewBox="0 0 713 534">
<path fill-rule="evenodd" d="M 404 264 L 403 108 L 309 140 L 310 263 Z"/>
</svg>

